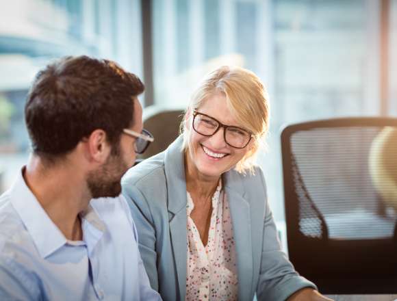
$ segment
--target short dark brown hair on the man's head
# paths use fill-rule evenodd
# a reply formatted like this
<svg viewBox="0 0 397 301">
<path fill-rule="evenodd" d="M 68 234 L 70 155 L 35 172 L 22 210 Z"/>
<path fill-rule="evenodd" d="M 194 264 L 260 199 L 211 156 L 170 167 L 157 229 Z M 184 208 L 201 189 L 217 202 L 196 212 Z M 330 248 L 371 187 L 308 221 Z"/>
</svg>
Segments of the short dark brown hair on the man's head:
<svg viewBox="0 0 397 301">
<path fill-rule="evenodd" d="M 103 129 L 112 148 L 133 125 L 142 81 L 109 60 L 63 57 L 41 70 L 29 91 L 25 121 L 36 155 L 55 159 Z"/>
</svg>

